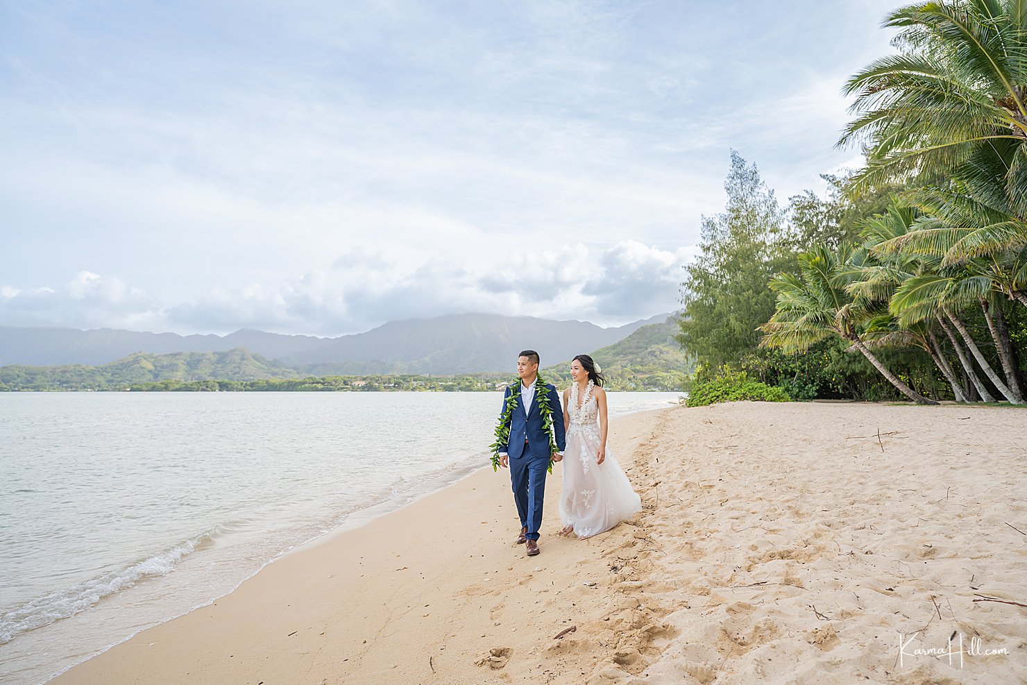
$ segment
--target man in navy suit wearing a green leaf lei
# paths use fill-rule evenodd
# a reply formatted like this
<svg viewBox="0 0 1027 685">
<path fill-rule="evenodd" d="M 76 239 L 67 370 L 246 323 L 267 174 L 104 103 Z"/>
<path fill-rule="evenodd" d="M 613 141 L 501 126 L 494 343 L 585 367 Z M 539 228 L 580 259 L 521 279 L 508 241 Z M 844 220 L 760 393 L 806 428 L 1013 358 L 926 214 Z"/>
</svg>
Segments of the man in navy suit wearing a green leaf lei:
<svg viewBox="0 0 1027 685">
<path fill-rule="evenodd" d="M 509 465 L 510 482 L 514 484 L 514 502 L 521 517 L 521 535 L 518 544 L 527 543 L 529 557 L 538 554 L 538 529 L 542 525 L 542 496 L 545 494 L 545 472 L 549 468 L 549 457 L 554 461 L 564 458 L 564 410 L 560 406 L 557 388 L 538 384 L 538 352 L 526 349 L 517 360 L 517 375 L 521 379 L 521 394 L 517 407 L 510 415 L 506 427 L 509 440 L 499 446 L 499 465 Z M 517 390 L 517 386 L 506 388 L 503 394 L 503 410 L 506 398 Z M 549 454 L 549 434 L 542 421 L 539 395 L 548 399 L 553 427 L 556 429 L 557 449 Z"/>
</svg>

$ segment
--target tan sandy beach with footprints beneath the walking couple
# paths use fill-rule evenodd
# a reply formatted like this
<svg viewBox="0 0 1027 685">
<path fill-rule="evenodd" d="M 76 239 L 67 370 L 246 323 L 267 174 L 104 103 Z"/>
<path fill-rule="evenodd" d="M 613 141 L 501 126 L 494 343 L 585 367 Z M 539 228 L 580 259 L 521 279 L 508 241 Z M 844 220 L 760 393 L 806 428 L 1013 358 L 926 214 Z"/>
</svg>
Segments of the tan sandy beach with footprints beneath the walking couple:
<svg viewBox="0 0 1027 685">
<path fill-rule="evenodd" d="M 605 534 L 556 536 L 558 465 L 527 558 L 508 474 L 483 469 L 52 682 L 1027 682 L 1024 411 L 611 424 L 644 508 Z"/>
</svg>

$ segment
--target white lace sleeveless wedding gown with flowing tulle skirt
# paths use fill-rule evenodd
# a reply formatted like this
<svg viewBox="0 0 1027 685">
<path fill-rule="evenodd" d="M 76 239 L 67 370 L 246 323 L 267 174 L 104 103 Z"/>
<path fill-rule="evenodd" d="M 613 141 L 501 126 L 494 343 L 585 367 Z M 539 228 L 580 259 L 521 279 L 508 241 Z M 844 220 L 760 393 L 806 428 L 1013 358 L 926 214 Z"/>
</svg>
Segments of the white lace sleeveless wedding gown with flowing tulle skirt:
<svg viewBox="0 0 1027 685">
<path fill-rule="evenodd" d="M 599 407 L 588 381 L 578 407 L 577 383 L 571 385 L 564 450 L 564 484 L 560 493 L 560 519 L 572 526 L 578 537 L 609 530 L 642 510 L 642 500 L 627 481 L 620 464 L 606 450 L 603 463 L 596 463 L 599 450 Z"/>
</svg>

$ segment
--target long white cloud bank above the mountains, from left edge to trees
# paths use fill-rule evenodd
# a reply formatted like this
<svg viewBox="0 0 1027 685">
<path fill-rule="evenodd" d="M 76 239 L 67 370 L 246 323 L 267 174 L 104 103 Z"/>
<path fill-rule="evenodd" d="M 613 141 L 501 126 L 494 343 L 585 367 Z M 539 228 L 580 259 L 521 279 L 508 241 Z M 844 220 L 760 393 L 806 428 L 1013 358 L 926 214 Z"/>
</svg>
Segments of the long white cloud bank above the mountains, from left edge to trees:
<svg viewBox="0 0 1027 685">
<path fill-rule="evenodd" d="M 620 325 L 677 308 L 680 267 L 692 252 L 623 240 L 397 261 L 357 248 L 279 284 L 215 288 L 180 302 L 83 270 L 60 288 L 0 286 L 0 326 L 335 336 L 464 312 Z"/>
</svg>

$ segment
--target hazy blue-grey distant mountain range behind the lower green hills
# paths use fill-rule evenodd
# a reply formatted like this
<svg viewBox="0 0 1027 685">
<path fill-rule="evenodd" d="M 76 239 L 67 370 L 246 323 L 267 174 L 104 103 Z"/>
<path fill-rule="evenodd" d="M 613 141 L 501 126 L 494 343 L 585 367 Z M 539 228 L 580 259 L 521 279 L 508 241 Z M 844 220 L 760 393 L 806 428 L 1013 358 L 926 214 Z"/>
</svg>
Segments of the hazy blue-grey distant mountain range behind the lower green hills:
<svg viewBox="0 0 1027 685">
<path fill-rule="evenodd" d="M 227 352 L 236 348 L 277 359 L 303 375 L 501 373 L 517 353 L 538 350 L 543 363 L 622 340 L 667 314 L 624 326 L 535 316 L 453 314 L 389 321 L 337 338 L 240 330 L 227 336 L 97 329 L 0 326 L 0 367 L 89 365 L 120 361 L 135 352 Z"/>
</svg>

